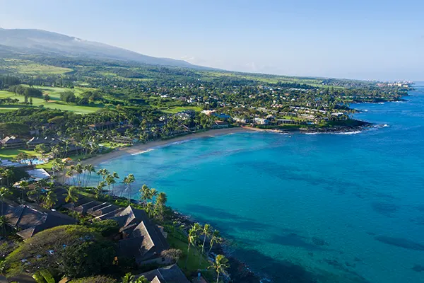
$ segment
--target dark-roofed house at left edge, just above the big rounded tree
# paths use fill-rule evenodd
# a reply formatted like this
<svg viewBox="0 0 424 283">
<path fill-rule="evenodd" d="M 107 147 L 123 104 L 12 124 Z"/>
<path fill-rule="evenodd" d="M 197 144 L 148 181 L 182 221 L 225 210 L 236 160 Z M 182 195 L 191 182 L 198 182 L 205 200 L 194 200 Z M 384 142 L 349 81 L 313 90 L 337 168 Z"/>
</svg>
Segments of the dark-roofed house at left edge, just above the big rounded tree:
<svg viewBox="0 0 424 283">
<path fill-rule="evenodd" d="M 5 216 L 8 226 L 19 230 L 16 234 L 23 238 L 23 240 L 31 238 L 36 233 L 45 229 L 76 224 L 75 219 L 65 214 L 50 211 L 40 212 L 24 204 L 18 207 L 4 205 L 4 211 L 1 213 Z"/>
</svg>

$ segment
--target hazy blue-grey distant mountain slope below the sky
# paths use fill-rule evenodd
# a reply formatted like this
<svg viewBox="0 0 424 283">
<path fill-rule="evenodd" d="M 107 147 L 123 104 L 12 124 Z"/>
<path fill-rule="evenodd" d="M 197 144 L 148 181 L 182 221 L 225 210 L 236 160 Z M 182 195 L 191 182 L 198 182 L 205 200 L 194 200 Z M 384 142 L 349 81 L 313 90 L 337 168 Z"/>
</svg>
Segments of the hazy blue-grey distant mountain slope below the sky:
<svg viewBox="0 0 424 283">
<path fill-rule="evenodd" d="M 70 37 L 45 30 L 8 30 L 0 28 L 0 45 L 3 45 L 1 53 L 25 52 L 39 55 L 115 59 L 145 64 L 208 69 L 182 60 L 146 56 L 100 42 L 81 40 L 78 37 Z"/>
</svg>

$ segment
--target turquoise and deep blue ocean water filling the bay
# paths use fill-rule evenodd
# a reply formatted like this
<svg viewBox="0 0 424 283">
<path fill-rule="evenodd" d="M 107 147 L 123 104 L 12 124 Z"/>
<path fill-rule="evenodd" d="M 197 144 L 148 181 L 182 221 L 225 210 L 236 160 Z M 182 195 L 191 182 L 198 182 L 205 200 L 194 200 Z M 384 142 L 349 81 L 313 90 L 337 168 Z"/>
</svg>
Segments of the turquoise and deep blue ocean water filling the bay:
<svg viewBox="0 0 424 283">
<path fill-rule="evenodd" d="M 424 282 L 424 84 L 358 134 L 240 133 L 100 166 L 207 221 L 273 282 Z"/>
</svg>

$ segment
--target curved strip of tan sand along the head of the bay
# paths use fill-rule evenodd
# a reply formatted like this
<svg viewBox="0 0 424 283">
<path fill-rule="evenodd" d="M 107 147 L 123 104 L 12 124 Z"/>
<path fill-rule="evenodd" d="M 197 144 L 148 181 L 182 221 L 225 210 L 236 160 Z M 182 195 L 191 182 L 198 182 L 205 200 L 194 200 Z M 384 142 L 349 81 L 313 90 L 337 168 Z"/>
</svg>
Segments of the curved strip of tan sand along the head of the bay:
<svg viewBox="0 0 424 283">
<path fill-rule="evenodd" d="M 136 144 L 134 146 L 124 147 L 121 149 L 116 149 L 107 154 L 100 154 L 98 156 L 94 156 L 88 159 L 81 161 L 82 164 L 93 164 L 96 165 L 98 163 L 102 163 L 105 161 L 110 161 L 110 159 L 118 158 L 126 154 L 137 154 L 141 151 L 146 151 L 148 149 L 152 149 L 157 146 L 166 146 L 167 144 L 172 144 L 176 141 L 187 141 L 192 139 L 200 139 L 204 137 L 216 137 L 223 134 L 233 134 L 237 132 L 250 132 L 252 129 L 250 128 L 227 128 L 227 129 L 211 129 L 206 132 L 198 132 L 194 134 L 187 134 L 181 137 L 175 137 L 173 139 L 166 140 L 158 140 L 158 141 L 149 141 L 146 144 Z"/>
</svg>

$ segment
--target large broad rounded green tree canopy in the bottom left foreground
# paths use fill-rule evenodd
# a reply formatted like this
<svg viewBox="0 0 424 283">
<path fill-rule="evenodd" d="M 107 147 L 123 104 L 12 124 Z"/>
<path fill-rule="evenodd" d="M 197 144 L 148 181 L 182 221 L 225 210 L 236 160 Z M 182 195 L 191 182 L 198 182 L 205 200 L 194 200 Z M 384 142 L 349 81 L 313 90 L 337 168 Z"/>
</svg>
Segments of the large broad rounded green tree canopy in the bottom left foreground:
<svg viewBox="0 0 424 283">
<path fill-rule="evenodd" d="M 37 255 L 42 257 L 31 265 L 21 262 Z M 47 269 L 71 278 L 88 277 L 110 270 L 114 255 L 114 243 L 95 229 L 64 225 L 36 233 L 7 256 L 6 266 L 17 272 Z"/>
</svg>

